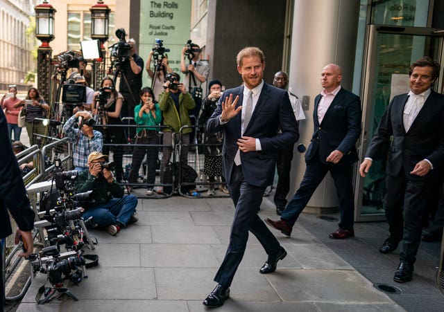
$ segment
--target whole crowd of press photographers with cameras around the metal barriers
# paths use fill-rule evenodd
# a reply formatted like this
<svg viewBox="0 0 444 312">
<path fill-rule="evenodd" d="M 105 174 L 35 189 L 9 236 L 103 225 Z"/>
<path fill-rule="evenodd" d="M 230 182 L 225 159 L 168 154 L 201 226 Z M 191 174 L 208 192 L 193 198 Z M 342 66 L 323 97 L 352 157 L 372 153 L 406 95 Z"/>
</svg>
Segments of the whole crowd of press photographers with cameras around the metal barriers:
<svg viewBox="0 0 444 312">
<path fill-rule="evenodd" d="M 30 146 L 43 148 L 62 138 L 71 144 L 72 167 L 67 168 L 59 158 L 45 160 L 46 167 L 53 169 L 51 187 L 42 192 L 34 209 L 40 221 L 33 224 L 33 210 L 26 208 L 30 205 L 22 181 L 22 176 L 24 180 L 32 176 L 35 158 L 8 168 L 13 171 L 17 167 L 21 171 L 15 180 L 19 181 L 17 194 L 26 201 L 20 210 L 26 208 L 27 219 L 17 217 L 19 208 L 16 212 L 11 201 L 0 201 L 5 205 L 2 214 L 7 213 L 7 207 L 21 229 L 17 230 L 16 239 L 23 250 L 19 256 L 31 261 L 34 274 L 47 275 L 49 284 L 40 288 L 36 296 L 38 304 L 62 294 L 78 300 L 67 285 L 78 285 L 87 276 L 86 268 L 96 266 L 99 261 L 97 255 L 84 254 L 85 248 L 94 249 L 97 243 L 88 230 L 103 229 L 117 235 L 137 222 L 137 196 L 131 194 L 136 188 L 144 187 L 148 197 L 180 190 L 189 196 L 200 196 L 196 185 L 178 187 L 178 181 L 174 181 L 176 178 L 187 181 L 190 174 L 194 177 L 190 182 L 196 180 L 196 171 L 187 164 L 190 149 L 191 152 L 198 149 L 205 156 L 207 195 L 214 196 L 215 188 L 223 196 L 228 194 L 221 169 L 223 136 L 207 134 L 204 127 L 216 109 L 223 86 L 212 80 L 208 84 L 208 97 L 203 98 L 206 92 L 201 85 L 207 80 L 209 66 L 200 60 L 199 46 L 188 40 L 182 49 L 181 72 L 185 76 L 181 80 L 180 74 L 169 66 L 170 49 L 164 47 L 162 39 L 155 39 L 144 67 L 144 59 L 136 53 L 135 40 L 127 41 L 123 28 L 116 35 L 119 42 L 110 48 L 110 67 L 96 91 L 91 59 L 83 51 L 82 54 L 67 51 L 57 56 L 51 75 L 56 99 L 53 103 L 34 87 L 23 100 L 17 98 L 17 88 L 13 85 L 1 96 L 2 139 L 8 137 L 12 143 L 11 154 L 2 156 L 19 157 L 26 151 L 28 147 L 20 141 L 22 127 L 26 127 Z M 152 83 L 142 87 L 144 68 Z M 175 160 L 178 143 L 180 156 Z M 130 161 L 123 161 L 124 154 L 130 156 Z M 28 235 L 33 228 L 43 233 L 44 248 L 33 249 L 33 240 Z M 3 237 L 10 232 L 2 230 L 1 234 Z"/>
</svg>

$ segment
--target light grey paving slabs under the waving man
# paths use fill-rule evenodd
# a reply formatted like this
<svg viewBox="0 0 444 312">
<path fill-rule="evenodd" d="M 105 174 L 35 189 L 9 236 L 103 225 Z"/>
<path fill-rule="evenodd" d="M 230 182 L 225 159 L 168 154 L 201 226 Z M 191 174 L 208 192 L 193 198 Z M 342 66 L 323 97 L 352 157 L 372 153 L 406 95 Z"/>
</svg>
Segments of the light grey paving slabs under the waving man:
<svg viewBox="0 0 444 312">
<path fill-rule="evenodd" d="M 268 198 L 260 215 L 275 218 Z M 87 270 L 80 286 L 69 285 L 78 302 L 63 297 L 37 305 L 46 279 L 39 273 L 17 311 L 207 311 L 202 301 L 228 244 L 232 201 L 139 199 L 137 211 L 139 222 L 116 237 L 90 231 L 99 244 L 87 253 L 100 256 L 99 266 Z M 325 227 L 336 230 L 334 223 Z M 289 253 L 278 270 L 259 273 L 266 254 L 250 235 L 231 297 L 217 311 L 404 311 L 303 226 L 291 237 L 273 232 Z"/>
</svg>

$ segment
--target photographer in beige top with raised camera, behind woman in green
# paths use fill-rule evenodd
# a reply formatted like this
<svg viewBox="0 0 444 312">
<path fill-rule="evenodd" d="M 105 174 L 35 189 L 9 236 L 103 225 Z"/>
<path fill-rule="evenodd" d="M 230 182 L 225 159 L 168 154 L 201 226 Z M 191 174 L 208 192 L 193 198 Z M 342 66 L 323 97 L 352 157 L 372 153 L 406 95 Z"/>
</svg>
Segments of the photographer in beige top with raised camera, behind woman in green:
<svg viewBox="0 0 444 312">
<path fill-rule="evenodd" d="M 151 69 L 151 59 L 155 55 L 154 71 Z M 153 89 L 155 98 L 159 98 L 160 93 L 163 91 L 163 84 L 165 77 L 168 73 L 172 73 L 173 69 L 168 64 L 168 55 L 163 55 L 155 51 L 155 48 L 150 51 L 148 59 L 146 59 L 146 72 L 148 76 L 153 80 L 151 89 Z"/>
</svg>

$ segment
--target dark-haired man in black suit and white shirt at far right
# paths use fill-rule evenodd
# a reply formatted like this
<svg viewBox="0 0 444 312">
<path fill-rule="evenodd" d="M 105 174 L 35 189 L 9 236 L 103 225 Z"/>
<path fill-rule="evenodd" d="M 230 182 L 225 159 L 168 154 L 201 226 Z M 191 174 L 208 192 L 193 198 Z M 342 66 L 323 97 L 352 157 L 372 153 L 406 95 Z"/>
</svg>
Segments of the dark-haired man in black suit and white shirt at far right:
<svg viewBox="0 0 444 312">
<path fill-rule="evenodd" d="M 359 167 L 361 176 L 366 176 L 378 150 L 392 141 L 384 199 L 390 236 L 379 251 L 390 253 L 402 240 L 400 264 L 393 277 L 400 283 L 409 282 L 413 275 L 422 220 L 428 214 L 427 199 L 444 158 L 444 95 L 430 89 L 440 67 L 429 57 L 411 64 L 410 92 L 388 104 Z"/>
</svg>

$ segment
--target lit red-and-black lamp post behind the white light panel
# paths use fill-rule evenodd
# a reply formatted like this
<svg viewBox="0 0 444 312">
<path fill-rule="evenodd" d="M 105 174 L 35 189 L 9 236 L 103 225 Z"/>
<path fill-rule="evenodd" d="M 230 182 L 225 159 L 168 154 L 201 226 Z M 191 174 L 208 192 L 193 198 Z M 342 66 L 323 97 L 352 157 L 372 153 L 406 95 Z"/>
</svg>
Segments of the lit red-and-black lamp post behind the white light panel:
<svg viewBox="0 0 444 312">
<path fill-rule="evenodd" d="M 91 11 L 91 39 L 98 39 L 100 41 L 101 59 L 94 59 L 92 63 L 93 81 L 92 84 L 96 89 L 99 89 L 100 82 L 105 76 L 105 60 L 106 51 L 103 43 L 108 40 L 108 24 L 110 22 L 110 8 L 98 0 L 94 6 L 89 8 Z"/>
</svg>

